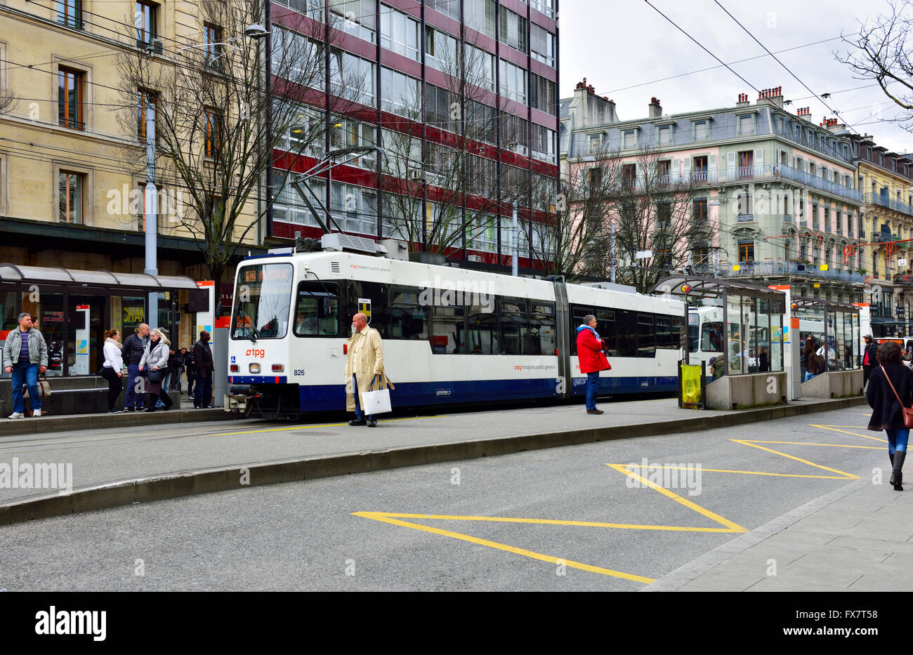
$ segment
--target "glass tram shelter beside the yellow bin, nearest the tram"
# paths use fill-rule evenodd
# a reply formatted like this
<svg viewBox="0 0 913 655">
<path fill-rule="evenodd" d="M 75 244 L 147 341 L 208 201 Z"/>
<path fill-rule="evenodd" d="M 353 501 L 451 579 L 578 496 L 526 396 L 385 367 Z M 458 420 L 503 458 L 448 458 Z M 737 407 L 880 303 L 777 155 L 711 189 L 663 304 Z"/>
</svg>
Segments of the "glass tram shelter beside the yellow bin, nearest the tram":
<svg viewBox="0 0 913 655">
<path fill-rule="evenodd" d="M 703 407 L 742 410 L 787 402 L 782 291 L 710 277 L 669 276 L 653 293 L 684 301 L 689 328 L 698 322 L 698 339 L 690 333 L 686 339 L 683 365 L 708 366 L 712 381 Z"/>
</svg>

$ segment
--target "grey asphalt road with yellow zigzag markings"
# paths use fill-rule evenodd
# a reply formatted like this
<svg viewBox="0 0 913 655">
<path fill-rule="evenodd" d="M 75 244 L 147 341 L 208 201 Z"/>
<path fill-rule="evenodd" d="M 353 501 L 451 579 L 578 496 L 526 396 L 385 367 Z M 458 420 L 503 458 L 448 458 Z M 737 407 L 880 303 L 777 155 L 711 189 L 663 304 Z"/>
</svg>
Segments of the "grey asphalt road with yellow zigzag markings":
<svg viewBox="0 0 913 655">
<path fill-rule="evenodd" d="M 866 415 L 857 407 L 8 525 L 0 588 L 635 591 L 887 470 Z M 644 458 L 692 467 L 691 477 L 651 488 L 651 475 L 673 470 L 643 469 Z"/>
</svg>

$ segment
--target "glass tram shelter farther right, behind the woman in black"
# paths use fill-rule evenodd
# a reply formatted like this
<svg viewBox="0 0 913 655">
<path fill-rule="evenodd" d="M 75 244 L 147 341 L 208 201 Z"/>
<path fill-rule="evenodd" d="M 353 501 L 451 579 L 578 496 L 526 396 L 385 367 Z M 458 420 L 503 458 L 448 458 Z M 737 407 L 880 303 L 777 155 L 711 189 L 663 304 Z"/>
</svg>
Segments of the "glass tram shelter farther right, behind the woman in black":
<svg viewBox="0 0 913 655">
<path fill-rule="evenodd" d="M 799 328 L 792 348 L 803 398 L 845 398 L 862 393 L 862 335 L 859 307 L 824 298 L 793 297 L 792 327 Z M 810 362 L 810 355 L 816 358 Z"/>
</svg>

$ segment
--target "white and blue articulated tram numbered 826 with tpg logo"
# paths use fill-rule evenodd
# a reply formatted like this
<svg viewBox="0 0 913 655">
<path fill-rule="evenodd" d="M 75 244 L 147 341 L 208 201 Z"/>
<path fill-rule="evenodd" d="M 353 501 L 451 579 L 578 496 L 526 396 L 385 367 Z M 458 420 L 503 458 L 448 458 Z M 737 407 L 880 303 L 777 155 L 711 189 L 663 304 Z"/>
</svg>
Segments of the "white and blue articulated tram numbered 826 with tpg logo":
<svg viewBox="0 0 913 655">
<path fill-rule="evenodd" d="M 612 364 L 601 394 L 675 392 L 685 345 L 674 299 L 348 252 L 249 257 L 234 297 L 226 408 L 264 416 L 345 409 L 359 311 L 383 338 L 394 407 L 582 396 L 587 314 Z"/>
</svg>

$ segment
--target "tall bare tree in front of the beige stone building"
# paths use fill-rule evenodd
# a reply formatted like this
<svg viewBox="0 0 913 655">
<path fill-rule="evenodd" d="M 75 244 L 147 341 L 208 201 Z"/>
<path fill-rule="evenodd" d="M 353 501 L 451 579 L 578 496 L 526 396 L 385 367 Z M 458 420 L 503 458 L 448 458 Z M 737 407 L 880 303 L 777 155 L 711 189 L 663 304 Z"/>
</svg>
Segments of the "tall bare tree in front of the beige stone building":
<svg viewBox="0 0 913 655">
<path fill-rule="evenodd" d="M 272 177 L 273 149 L 289 153 L 286 170 L 302 154 L 322 156 L 336 117 L 375 97 L 373 78 L 348 65 L 332 47 L 331 26 L 317 20 L 302 21 L 304 33 L 274 27 L 270 68 L 278 81 L 267 93 L 266 39 L 245 36 L 248 26 L 262 21 L 265 1 L 199 0 L 199 44 L 165 57 L 138 48 L 118 59 L 121 126 L 139 142 L 125 157 L 142 171 L 144 105 L 154 103 L 156 182 L 186 199 L 169 220 L 194 236 L 215 280 L 269 209 L 258 197 L 261 185 L 284 182 Z"/>
</svg>

